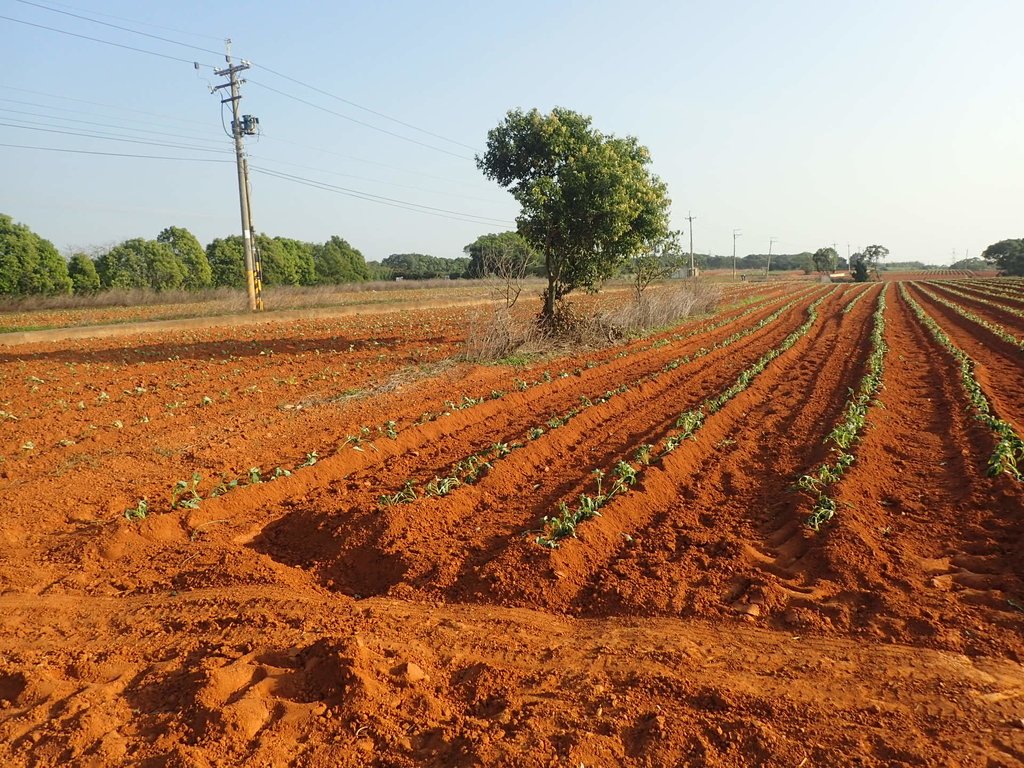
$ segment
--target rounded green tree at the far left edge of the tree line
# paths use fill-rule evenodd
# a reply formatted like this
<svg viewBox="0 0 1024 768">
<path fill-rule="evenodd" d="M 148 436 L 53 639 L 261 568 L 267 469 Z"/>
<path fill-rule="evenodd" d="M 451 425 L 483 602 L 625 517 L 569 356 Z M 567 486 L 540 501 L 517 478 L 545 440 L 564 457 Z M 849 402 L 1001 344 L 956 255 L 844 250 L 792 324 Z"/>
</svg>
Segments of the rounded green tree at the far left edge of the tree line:
<svg viewBox="0 0 1024 768">
<path fill-rule="evenodd" d="M 48 240 L 0 214 L 0 295 L 71 293 L 68 262 Z"/>
</svg>

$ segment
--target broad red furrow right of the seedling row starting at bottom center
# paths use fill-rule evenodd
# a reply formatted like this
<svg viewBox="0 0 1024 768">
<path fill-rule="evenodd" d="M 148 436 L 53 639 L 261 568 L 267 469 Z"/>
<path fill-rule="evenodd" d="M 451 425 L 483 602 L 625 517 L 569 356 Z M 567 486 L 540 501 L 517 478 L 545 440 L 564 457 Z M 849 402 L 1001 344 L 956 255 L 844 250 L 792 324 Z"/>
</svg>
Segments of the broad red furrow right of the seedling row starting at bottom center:
<svg viewBox="0 0 1024 768">
<path fill-rule="evenodd" d="M 792 577 L 777 561 L 806 549 L 790 487 L 826 456 L 823 437 L 863 374 L 877 296 L 872 289 L 848 315 L 822 308 L 824 316 L 778 368 L 766 370 L 722 418 L 709 419 L 697 436 L 702 447 L 670 470 L 676 493 L 639 500 L 653 512 L 648 523 L 612 525 L 617 537 L 595 541 L 588 529 L 585 543 L 573 543 L 577 551 L 554 553 L 560 582 L 575 581 L 584 564 L 573 611 L 707 615 L 735 604 L 756 613 L 772 598 L 784 601 L 768 586 L 780 581 L 772 571 Z M 776 437 L 767 442 L 764 435 Z"/>
</svg>

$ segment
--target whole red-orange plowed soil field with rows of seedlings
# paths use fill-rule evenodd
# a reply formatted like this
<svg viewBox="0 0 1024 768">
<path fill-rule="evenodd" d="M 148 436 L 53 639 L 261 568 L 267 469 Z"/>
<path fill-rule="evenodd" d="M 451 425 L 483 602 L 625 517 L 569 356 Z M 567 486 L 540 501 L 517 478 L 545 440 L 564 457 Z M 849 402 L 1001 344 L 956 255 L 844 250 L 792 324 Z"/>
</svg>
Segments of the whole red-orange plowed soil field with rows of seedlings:
<svg viewBox="0 0 1024 768">
<path fill-rule="evenodd" d="M 1024 352 L 931 297 L 1020 288 L 943 285 L 522 367 L 470 306 L 0 336 L 0 764 L 1024 764 L 1024 489 L 914 314 L 1020 436 Z"/>
</svg>

